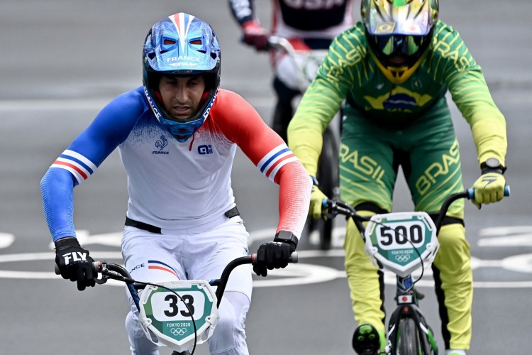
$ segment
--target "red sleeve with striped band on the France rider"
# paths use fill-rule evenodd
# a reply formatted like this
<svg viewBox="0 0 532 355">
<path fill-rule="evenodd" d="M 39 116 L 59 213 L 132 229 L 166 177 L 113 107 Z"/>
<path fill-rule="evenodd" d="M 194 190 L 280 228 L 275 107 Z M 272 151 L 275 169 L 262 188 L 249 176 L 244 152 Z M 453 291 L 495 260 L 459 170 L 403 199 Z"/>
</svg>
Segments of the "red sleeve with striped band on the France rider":
<svg viewBox="0 0 532 355">
<path fill-rule="evenodd" d="M 312 187 L 301 162 L 240 95 L 221 89 L 211 114 L 216 128 L 236 143 L 262 174 L 279 184 L 277 231 L 301 236 Z"/>
</svg>

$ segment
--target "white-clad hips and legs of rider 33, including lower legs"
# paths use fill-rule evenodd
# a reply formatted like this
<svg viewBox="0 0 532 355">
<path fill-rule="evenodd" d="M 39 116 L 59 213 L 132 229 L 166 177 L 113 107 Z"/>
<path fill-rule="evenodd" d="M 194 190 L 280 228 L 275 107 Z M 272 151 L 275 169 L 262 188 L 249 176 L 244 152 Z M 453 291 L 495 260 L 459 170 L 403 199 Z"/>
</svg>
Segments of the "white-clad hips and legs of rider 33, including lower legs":
<svg viewBox="0 0 532 355">
<path fill-rule="evenodd" d="M 242 219 L 233 217 L 171 234 L 155 234 L 126 226 L 122 255 L 126 269 L 138 281 L 165 282 L 177 279 L 213 280 L 235 258 L 248 255 L 248 237 Z M 217 224 L 217 225 L 216 225 Z M 245 318 L 253 280 L 249 265 L 237 266 L 229 277 L 220 308 L 220 320 L 209 339 L 214 355 L 248 355 Z M 131 295 L 126 330 L 133 355 L 158 355 L 158 346 L 145 337 L 138 324 L 138 310 Z"/>
</svg>

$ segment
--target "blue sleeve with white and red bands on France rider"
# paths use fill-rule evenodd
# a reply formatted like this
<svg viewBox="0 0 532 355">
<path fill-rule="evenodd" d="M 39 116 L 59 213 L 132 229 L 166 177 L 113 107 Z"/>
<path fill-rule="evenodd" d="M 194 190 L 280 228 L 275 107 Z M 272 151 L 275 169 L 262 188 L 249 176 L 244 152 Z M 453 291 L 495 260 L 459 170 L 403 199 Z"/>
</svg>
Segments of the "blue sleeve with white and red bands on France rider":
<svg viewBox="0 0 532 355">
<path fill-rule="evenodd" d="M 140 88 L 116 97 L 50 166 L 40 182 L 40 190 L 46 222 L 53 241 L 66 236 L 76 236 L 73 218 L 74 187 L 89 178 L 95 168 L 126 140 L 135 123 L 147 110 L 148 106 Z M 67 152 L 70 155 L 65 155 Z M 64 157 L 69 158 L 72 164 L 79 163 L 78 166 L 83 165 L 86 169 L 83 169 L 81 174 L 74 175 L 72 170 L 63 168 L 70 165 Z M 92 168 L 87 168 L 87 165 Z"/>
</svg>

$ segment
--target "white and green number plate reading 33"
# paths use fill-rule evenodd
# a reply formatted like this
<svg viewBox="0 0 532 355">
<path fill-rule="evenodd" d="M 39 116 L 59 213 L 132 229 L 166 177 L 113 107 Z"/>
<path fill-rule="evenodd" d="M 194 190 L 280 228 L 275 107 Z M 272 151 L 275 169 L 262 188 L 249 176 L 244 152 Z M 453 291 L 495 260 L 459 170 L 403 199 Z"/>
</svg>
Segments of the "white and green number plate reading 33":
<svg viewBox="0 0 532 355">
<path fill-rule="evenodd" d="M 139 321 L 145 333 L 148 335 L 149 329 L 161 342 L 183 351 L 194 342 L 195 322 L 197 344 L 209 339 L 218 322 L 216 295 L 209 283 L 182 280 L 161 285 L 174 293 L 166 288 L 148 286 L 140 294 Z"/>
</svg>

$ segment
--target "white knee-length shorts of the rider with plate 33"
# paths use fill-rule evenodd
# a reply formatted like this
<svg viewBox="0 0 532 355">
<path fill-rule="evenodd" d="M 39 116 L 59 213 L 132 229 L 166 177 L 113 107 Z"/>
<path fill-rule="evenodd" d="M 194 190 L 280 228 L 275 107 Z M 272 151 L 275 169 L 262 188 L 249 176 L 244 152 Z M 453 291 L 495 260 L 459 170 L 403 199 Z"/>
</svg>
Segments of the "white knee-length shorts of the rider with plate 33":
<svg viewBox="0 0 532 355">
<path fill-rule="evenodd" d="M 248 238 L 239 216 L 218 226 L 199 226 L 172 234 L 126 226 L 122 256 L 135 280 L 213 280 L 220 278 L 230 261 L 248 255 Z M 231 273 L 226 291 L 237 291 L 251 299 L 252 285 L 250 266 L 238 266 Z"/>
</svg>

